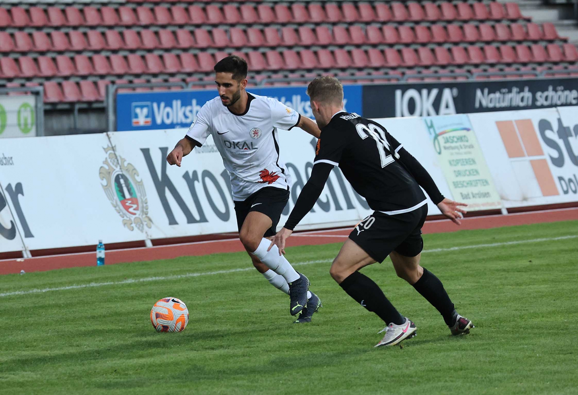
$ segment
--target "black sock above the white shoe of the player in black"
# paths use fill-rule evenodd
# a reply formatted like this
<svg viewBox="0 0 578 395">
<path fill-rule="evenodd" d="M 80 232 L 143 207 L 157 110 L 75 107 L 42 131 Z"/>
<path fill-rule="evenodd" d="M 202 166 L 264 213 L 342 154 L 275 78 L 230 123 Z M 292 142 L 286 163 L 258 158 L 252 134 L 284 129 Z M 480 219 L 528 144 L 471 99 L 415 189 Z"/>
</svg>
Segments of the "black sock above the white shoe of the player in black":
<svg viewBox="0 0 578 395">
<path fill-rule="evenodd" d="M 390 322 L 395 325 L 402 325 L 405 322 L 405 318 L 395 310 L 395 307 L 383 295 L 381 288 L 366 275 L 355 271 L 339 285 L 357 303 L 360 303 L 367 310 L 375 312 L 386 325 L 389 325 Z"/>
</svg>

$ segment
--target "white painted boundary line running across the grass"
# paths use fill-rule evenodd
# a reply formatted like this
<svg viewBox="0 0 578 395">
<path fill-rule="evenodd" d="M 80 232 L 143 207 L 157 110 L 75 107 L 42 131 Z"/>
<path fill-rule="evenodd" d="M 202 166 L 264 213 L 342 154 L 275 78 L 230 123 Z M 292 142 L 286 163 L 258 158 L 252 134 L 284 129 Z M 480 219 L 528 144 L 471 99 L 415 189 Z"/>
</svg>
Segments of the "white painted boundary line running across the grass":
<svg viewBox="0 0 578 395">
<path fill-rule="evenodd" d="M 424 249 L 422 253 L 427 252 L 442 252 L 442 251 L 458 251 L 460 249 L 470 249 L 470 248 L 486 248 L 486 247 L 498 247 L 499 245 L 514 245 L 514 244 L 526 244 L 526 243 L 540 243 L 542 241 L 555 241 L 555 240 L 567 240 L 567 239 L 576 239 L 578 235 L 570 234 L 568 236 L 560 236 L 560 237 L 543 237 L 541 239 L 531 239 L 531 240 L 517 240 L 517 241 L 504 241 L 502 243 L 491 243 L 491 244 L 473 244 L 473 245 L 461 245 L 460 247 L 450 247 L 450 248 L 433 248 L 433 249 Z M 312 264 L 312 263 L 328 263 L 332 262 L 332 259 L 318 259 L 318 260 L 307 260 L 306 262 L 297 262 L 293 263 L 293 266 L 302 266 L 305 264 Z M 80 289 L 80 288 L 92 288 L 96 286 L 103 286 L 103 285 L 122 285 L 122 284 L 134 284 L 135 282 L 150 282 L 150 281 L 162 281 L 162 280 L 176 280 L 179 278 L 188 278 L 188 277 L 199 277 L 201 275 L 213 275 L 213 274 L 228 274 L 228 273 L 236 273 L 238 271 L 250 271 L 253 270 L 253 267 L 243 267 L 240 269 L 228 269 L 228 270 L 217 270 L 217 271 L 206 271 L 203 273 L 186 273 L 186 274 L 174 274 L 174 275 L 166 275 L 160 277 L 144 277 L 144 278 L 137 278 L 132 279 L 129 278 L 123 281 L 109 281 L 109 282 L 91 282 L 90 284 L 81 284 L 81 285 L 69 285 L 69 286 L 61 286 L 58 288 L 44 288 L 44 289 L 29 289 L 29 290 L 20 290 L 20 291 L 13 291 L 13 292 L 5 292 L 0 293 L 0 297 L 5 296 L 15 296 L 15 295 L 28 295 L 31 293 L 45 293 L 51 291 L 58 291 L 58 290 L 66 290 L 66 289 Z"/>
</svg>

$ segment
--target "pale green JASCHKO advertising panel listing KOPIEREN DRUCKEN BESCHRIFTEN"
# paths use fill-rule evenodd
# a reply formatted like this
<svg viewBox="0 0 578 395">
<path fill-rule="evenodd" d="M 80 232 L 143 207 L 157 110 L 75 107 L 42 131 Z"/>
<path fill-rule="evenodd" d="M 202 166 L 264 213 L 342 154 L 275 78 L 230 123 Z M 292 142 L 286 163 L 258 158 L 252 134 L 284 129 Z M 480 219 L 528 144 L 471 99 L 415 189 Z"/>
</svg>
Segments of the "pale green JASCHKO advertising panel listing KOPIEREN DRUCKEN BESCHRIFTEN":
<svg viewBox="0 0 578 395">
<path fill-rule="evenodd" d="M 501 208 L 468 115 L 425 117 L 423 122 L 454 200 L 467 203 L 468 211 Z"/>
</svg>

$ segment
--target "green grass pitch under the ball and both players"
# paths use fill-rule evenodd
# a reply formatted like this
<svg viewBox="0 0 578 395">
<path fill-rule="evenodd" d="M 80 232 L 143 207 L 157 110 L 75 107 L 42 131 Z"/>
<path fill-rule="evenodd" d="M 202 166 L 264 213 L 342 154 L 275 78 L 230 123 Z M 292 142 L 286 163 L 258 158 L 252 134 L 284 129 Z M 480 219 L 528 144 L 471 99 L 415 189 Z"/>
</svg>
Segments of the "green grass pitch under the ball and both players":
<svg viewBox="0 0 578 395">
<path fill-rule="evenodd" d="M 578 234 L 578 221 L 428 234 L 425 249 Z M 329 277 L 341 243 L 288 248 L 324 307 L 293 325 L 288 297 L 257 271 L 1 296 L 6 394 L 576 394 L 578 239 L 425 252 L 472 333 L 441 316 L 391 262 L 363 272 L 418 336 L 373 348 L 383 323 Z M 0 293 L 248 267 L 246 254 L 80 267 L 0 277 Z M 190 322 L 157 333 L 155 301 L 179 297 Z"/>
</svg>

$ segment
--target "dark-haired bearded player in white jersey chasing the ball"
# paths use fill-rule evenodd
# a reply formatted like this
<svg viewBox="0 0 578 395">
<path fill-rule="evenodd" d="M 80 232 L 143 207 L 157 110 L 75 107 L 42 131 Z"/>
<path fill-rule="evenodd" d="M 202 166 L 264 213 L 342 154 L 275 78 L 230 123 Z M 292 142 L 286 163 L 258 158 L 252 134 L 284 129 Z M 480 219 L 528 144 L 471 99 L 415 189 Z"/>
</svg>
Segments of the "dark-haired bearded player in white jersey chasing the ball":
<svg viewBox="0 0 578 395">
<path fill-rule="evenodd" d="M 310 322 L 321 300 L 309 291 L 309 280 L 293 269 L 275 247 L 267 251 L 281 212 L 289 199 L 290 174 L 279 161 L 277 129 L 297 126 L 315 137 L 316 122 L 277 99 L 246 91 L 247 62 L 232 55 L 214 66 L 219 96 L 197 114 L 187 135 L 167 156 L 170 165 L 181 165 L 183 156 L 201 147 L 209 135 L 231 175 L 231 188 L 239 227 L 239 239 L 255 269 L 275 288 L 290 296 L 290 313 L 297 322 Z"/>
</svg>

